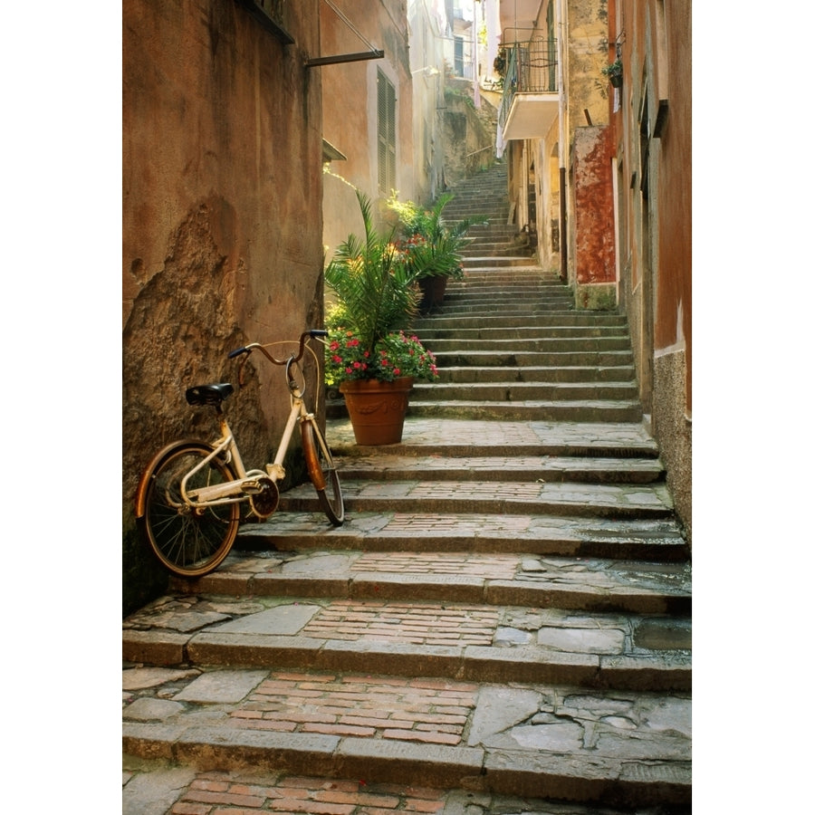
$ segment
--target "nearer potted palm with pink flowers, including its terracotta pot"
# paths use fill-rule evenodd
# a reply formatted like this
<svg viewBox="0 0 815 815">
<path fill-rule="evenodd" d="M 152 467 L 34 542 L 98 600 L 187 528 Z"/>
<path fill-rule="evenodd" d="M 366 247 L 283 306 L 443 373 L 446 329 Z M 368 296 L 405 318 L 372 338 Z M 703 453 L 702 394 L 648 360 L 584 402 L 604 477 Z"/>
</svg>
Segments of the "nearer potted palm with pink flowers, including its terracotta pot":
<svg viewBox="0 0 815 815">
<path fill-rule="evenodd" d="M 349 235 L 325 270 L 337 295 L 326 320 L 325 376 L 339 384 L 360 445 L 397 444 L 415 379 L 436 379 L 436 358 L 405 331 L 417 315 L 417 272 L 394 241 L 379 235 L 359 191 L 364 234 Z"/>
</svg>

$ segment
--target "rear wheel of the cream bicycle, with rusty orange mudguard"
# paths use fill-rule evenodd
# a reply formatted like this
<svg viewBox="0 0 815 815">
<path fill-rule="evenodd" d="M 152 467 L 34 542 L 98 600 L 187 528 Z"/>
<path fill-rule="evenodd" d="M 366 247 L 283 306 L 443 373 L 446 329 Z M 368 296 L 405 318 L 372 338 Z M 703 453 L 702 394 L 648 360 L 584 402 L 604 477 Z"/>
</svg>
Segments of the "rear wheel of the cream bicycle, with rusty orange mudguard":
<svg viewBox="0 0 815 815">
<path fill-rule="evenodd" d="M 139 526 L 158 560 L 179 577 L 200 577 L 215 570 L 235 542 L 237 503 L 192 508 L 181 498 L 181 479 L 212 451 L 203 443 L 181 443 L 142 475 L 139 489 L 144 489 L 145 500 Z M 226 481 L 235 481 L 231 467 L 214 458 L 187 481 L 187 489 Z"/>
</svg>

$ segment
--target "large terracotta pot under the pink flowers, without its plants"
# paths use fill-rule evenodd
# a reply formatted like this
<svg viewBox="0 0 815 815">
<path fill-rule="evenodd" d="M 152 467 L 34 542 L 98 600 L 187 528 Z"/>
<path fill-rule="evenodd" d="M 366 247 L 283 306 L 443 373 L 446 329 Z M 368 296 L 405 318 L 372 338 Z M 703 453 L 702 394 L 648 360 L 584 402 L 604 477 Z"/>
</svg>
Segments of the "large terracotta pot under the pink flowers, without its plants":
<svg viewBox="0 0 815 815">
<path fill-rule="evenodd" d="M 340 385 L 358 445 L 397 445 L 402 440 L 411 388 L 413 377 L 352 379 Z"/>
</svg>

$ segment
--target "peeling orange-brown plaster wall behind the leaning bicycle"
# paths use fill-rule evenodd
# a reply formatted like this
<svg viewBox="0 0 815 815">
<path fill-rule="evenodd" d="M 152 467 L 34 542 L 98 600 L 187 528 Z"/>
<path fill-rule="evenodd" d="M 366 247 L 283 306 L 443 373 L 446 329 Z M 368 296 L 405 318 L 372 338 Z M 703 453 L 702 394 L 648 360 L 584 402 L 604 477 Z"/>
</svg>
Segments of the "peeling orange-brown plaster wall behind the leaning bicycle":
<svg viewBox="0 0 815 815">
<path fill-rule="evenodd" d="M 126 609 L 163 580 L 134 534 L 138 476 L 168 441 L 216 429 L 185 388 L 234 381 L 226 354 L 245 341 L 321 322 L 321 84 L 303 64 L 317 4 L 281 6 L 293 45 L 232 2 L 122 5 Z M 287 413 L 271 368 L 227 403 L 250 465 Z"/>
</svg>

